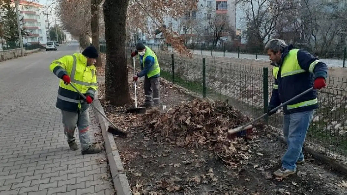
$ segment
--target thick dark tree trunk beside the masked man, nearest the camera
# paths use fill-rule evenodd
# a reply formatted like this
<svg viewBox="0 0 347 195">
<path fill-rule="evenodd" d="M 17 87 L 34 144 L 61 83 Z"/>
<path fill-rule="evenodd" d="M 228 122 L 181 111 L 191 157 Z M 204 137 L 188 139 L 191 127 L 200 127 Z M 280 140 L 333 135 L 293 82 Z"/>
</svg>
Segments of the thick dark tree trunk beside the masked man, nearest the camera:
<svg viewBox="0 0 347 195">
<path fill-rule="evenodd" d="M 103 5 L 106 39 L 105 98 L 114 106 L 132 103 L 125 53 L 128 2 L 129 0 L 106 0 Z"/>
</svg>

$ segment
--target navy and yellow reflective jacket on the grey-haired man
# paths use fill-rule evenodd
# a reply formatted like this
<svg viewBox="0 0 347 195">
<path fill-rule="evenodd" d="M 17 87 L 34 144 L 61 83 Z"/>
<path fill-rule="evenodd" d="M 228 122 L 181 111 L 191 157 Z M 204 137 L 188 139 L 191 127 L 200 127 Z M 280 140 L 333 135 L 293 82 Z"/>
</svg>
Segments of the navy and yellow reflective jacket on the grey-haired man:
<svg viewBox="0 0 347 195">
<path fill-rule="evenodd" d="M 315 78 L 326 79 L 327 70 L 327 65 L 310 53 L 294 49 L 289 45 L 282 53 L 282 63 L 272 70 L 275 82 L 269 108 L 275 108 L 311 88 Z M 316 108 L 318 108 L 317 91 L 312 90 L 284 106 L 283 112 L 291 114 Z"/>
</svg>

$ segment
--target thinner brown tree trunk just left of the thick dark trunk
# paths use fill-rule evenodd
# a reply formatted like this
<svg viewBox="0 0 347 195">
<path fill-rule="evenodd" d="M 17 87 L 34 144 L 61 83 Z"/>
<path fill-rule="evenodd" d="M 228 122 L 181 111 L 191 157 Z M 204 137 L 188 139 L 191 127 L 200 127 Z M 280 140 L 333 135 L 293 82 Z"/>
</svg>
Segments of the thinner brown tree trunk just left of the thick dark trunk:
<svg viewBox="0 0 347 195">
<path fill-rule="evenodd" d="M 96 47 L 96 50 L 100 53 L 100 43 L 99 43 L 99 5 L 100 0 L 91 0 L 91 31 L 92 31 L 92 45 Z M 101 57 L 99 55 L 98 60 L 95 63 L 96 67 L 101 67 Z"/>
</svg>

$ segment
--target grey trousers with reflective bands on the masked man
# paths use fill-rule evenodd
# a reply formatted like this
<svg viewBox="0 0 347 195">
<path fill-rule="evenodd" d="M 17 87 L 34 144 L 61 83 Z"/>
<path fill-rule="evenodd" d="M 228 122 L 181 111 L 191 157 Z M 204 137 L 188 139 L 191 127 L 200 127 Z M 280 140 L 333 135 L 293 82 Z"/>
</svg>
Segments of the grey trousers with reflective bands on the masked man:
<svg viewBox="0 0 347 195">
<path fill-rule="evenodd" d="M 143 87 L 145 90 L 145 104 L 152 105 L 152 97 L 153 97 L 153 104 L 155 106 L 159 106 L 159 92 L 160 92 L 159 77 L 148 78 L 147 76 L 145 76 Z"/>
</svg>

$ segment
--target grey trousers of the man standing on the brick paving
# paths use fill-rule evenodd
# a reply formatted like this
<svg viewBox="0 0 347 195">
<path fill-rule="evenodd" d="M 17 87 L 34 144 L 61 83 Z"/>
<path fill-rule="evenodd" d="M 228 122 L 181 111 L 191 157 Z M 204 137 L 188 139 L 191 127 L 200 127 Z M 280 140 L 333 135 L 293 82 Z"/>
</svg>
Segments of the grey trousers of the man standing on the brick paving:
<svg viewBox="0 0 347 195">
<path fill-rule="evenodd" d="M 79 142 L 81 142 L 81 151 L 88 149 L 92 144 L 89 138 L 89 112 L 88 108 L 80 112 L 68 112 L 61 110 L 62 123 L 64 124 L 64 134 L 67 141 L 75 140 L 75 128 L 78 128 Z"/>
</svg>

